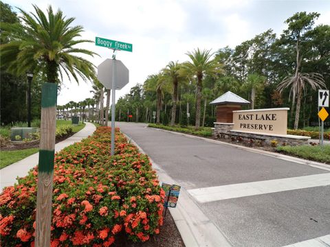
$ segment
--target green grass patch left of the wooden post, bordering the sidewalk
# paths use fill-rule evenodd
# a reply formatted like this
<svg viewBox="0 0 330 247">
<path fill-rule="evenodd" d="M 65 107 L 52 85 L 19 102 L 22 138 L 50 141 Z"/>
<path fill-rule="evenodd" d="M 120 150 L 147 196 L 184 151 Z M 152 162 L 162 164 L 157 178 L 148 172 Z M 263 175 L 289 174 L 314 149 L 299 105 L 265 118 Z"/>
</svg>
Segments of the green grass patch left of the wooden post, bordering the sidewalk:
<svg viewBox="0 0 330 247">
<path fill-rule="evenodd" d="M 0 169 L 6 167 L 7 165 L 11 165 L 17 161 L 21 161 L 21 159 L 30 156 L 39 151 L 39 148 L 28 148 L 25 150 L 13 150 L 13 151 L 1 151 L 0 152 Z"/>
</svg>

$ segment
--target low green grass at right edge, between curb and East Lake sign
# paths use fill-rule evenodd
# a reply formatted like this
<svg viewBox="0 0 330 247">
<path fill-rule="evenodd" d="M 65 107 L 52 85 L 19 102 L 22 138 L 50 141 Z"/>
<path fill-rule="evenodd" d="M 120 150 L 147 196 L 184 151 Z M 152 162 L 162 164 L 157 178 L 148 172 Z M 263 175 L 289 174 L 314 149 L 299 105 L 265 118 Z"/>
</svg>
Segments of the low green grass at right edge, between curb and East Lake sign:
<svg viewBox="0 0 330 247">
<path fill-rule="evenodd" d="M 323 147 L 320 145 L 281 146 L 277 150 L 312 161 L 330 163 L 330 145 L 324 145 Z"/>
</svg>

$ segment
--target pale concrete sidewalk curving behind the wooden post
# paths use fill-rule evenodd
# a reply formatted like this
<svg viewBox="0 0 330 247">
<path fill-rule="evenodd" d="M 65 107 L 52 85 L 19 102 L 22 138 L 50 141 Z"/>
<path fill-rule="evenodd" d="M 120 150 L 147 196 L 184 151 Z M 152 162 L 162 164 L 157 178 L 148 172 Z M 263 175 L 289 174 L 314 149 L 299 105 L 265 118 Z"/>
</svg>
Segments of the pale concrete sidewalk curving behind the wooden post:
<svg viewBox="0 0 330 247">
<path fill-rule="evenodd" d="M 83 130 L 80 130 L 72 137 L 69 137 L 64 141 L 56 143 L 55 152 L 63 150 L 63 148 L 67 147 L 68 145 L 72 145 L 93 134 L 93 132 L 96 130 L 94 124 L 88 122 L 86 122 L 85 124 L 86 126 L 85 128 L 83 128 Z M 0 192 L 2 192 L 4 187 L 14 185 L 14 183 L 16 183 L 17 177 L 23 177 L 28 175 L 30 169 L 35 167 L 38 164 L 38 161 L 39 152 L 37 152 L 36 154 L 32 154 L 26 158 L 23 158 L 23 160 L 18 161 L 17 163 L 8 165 L 7 167 L 0 169 Z"/>
</svg>

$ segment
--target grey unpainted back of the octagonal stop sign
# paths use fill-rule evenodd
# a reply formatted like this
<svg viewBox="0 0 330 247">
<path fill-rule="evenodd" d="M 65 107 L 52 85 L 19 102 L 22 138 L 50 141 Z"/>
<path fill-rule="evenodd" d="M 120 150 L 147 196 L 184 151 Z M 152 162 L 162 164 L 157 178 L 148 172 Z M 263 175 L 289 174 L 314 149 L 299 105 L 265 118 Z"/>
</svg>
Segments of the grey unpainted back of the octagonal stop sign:
<svg viewBox="0 0 330 247">
<path fill-rule="evenodd" d="M 107 58 L 98 65 L 98 80 L 106 89 L 112 89 L 113 63 L 115 62 L 115 89 L 122 89 L 129 83 L 129 69 L 120 60 Z"/>
</svg>

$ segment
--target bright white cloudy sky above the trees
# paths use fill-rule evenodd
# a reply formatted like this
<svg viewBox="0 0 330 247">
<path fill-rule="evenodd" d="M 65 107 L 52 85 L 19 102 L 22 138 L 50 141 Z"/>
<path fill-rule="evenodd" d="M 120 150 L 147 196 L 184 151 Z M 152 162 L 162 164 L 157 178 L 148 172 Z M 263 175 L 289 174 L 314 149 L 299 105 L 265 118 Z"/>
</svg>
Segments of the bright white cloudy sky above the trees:
<svg viewBox="0 0 330 247">
<path fill-rule="evenodd" d="M 73 25 L 82 25 L 82 38 L 96 36 L 133 45 L 133 52 L 118 51 L 116 58 L 129 69 L 129 84 L 116 91 L 115 98 L 129 93 L 132 86 L 143 84 L 148 75 L 158 73 L 170 61 L 188 60 L 193 49 L 234 48 L 268 29 L 281 34 L 284 21 L 296 12 L 318 12 L 318 24 L 330 25 L 330 0 L 3 0 L 13 7 L 33 12 L 32 4 L 42 10 L 52 5 L 65 16 L 75 17 Z M 80 47 L 99 56 L 85 57 L 96 67 L 112 51 L 86 43 Z M 58 95 L 58 105 L 93 97 L 91 82 L 68 78 Z"/>
</svg>

